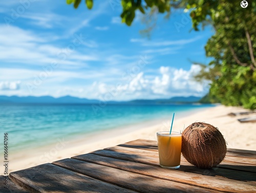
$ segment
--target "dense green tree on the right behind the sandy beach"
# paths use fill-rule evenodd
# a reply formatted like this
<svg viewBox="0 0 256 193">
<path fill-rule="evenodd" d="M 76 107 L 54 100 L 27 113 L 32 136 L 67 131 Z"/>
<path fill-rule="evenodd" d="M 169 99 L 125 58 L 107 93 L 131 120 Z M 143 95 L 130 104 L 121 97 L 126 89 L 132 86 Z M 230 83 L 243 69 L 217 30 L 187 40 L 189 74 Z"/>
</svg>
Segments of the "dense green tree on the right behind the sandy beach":
<svg viewBox="0 0 256 193">
<path fill-rule="evenodd" d="M 215 1 L 202 9 L 197 7 L 190 16 L 195 28 L 207 17 L 215 28 L 205 46 L 206 55 L 214 60 L 209 63 L 209 73 L 205 71 L 207 68 L 202 69 L 196 78 L 212 81 L 210 98 L 253 110 L 256 109 L 256 11 L 255 2 L 247 2 L 249 6 L 241 8 L 240 1 Z M 198 16 L 199 13 L 203 16 Z"/>
</svg>

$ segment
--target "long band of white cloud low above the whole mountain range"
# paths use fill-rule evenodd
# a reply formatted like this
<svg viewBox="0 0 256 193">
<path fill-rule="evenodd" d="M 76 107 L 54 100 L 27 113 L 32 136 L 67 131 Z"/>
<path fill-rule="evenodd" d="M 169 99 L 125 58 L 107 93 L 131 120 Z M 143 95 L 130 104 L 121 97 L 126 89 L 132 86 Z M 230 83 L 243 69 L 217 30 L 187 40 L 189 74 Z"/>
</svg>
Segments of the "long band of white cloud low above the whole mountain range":
<svg viewBox="0 0 256 193">
<path fill-rule="evenodd" d="M 0 90 L 6 95 L 12 95 L 16 91 L 16 94 L 21 96 L 28 94 L 40 96 L 48 93 L 55 97 L 73 95 L 100 100 L 154 99 L 190 95 L 201 97 L 208 92 L 209 82 L 199 83 L 193 80 L 193 75 L 199 71 L 200 66 L 197 65 L 192 65 L 189 70 L 162 66 L 158 69 L 157 75 L 147 76 L 140 71 L 129 79 L 122 79 L 119 74 L 114 78 L 114 81 L 105 82 L 108 76 L 113 77 L 118 72 L 108 69 L 109 73 L 106 75 L 104 71 L 98 72 L 97 69 L 83 72 L 54 69 L 47 74 L 47 78 L 40 81 L 42 73 L 45 73 L 44 69 L 41 71 L 2 69 L 0 72 Z M 19 81 L 14 79 L 6 81 L 8 77 L 15 77 Z M 76 84 L 66 85 L 66 82 L 74 79 Z M 94 82 L 83 84 L 88 80 L 94 80 Z M 20 85 L 21 81 L 23 87 Z M 29 92 L 28 83 L 38 85 L 32 92 Z"/>
</svg>

